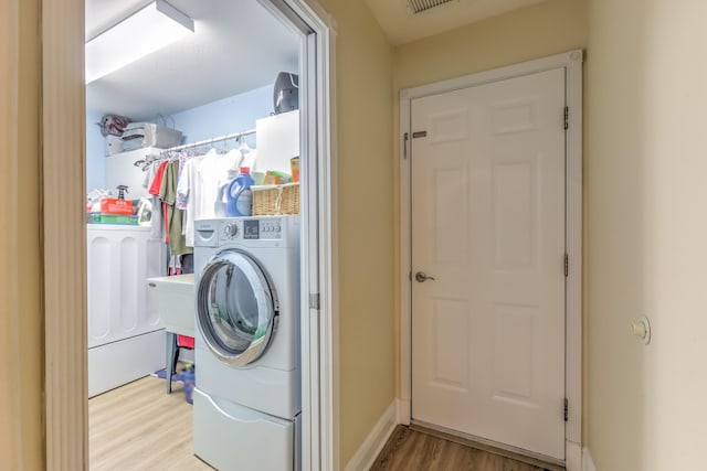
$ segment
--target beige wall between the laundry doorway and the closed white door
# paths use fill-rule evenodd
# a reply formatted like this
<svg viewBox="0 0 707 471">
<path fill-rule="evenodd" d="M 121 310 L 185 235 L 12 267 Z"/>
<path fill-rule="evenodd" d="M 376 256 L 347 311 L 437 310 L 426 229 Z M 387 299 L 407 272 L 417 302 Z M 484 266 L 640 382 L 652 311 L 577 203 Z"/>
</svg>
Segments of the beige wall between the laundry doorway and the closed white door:
<svg viewBox="0 0 707 471">
<path fill-rule="evenodd" d="M 362 0 L 337 22 L 339 419 L 344 468 L 394 399 L 392 47 Z"/>
</svg>

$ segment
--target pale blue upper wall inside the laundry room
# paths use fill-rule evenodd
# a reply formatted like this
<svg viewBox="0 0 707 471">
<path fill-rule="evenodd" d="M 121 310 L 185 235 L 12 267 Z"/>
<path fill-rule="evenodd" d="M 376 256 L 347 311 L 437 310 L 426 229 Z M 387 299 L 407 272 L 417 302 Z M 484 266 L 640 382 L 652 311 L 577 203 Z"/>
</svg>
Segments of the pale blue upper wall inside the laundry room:
<svg viewBox="0 0 707 471">
<path fill-rule="evenodd" d="M 184 135 L 184 142 L 196 142 L 254 129 L 256 119 L 265 118 L 272 113 L 273 86 L 267 85 L 176 113 L 170 117 L 175 120 L 175 128 Z M 96 126 L 104 114 L 86 111 L 86 191 L 105 186 L 105 139 Z M 167 124 L 172 126 L 171 119 L 168 118 Z M 251 136 L 247 143 L 255 148 L 255 136 Z"/>
</svg>

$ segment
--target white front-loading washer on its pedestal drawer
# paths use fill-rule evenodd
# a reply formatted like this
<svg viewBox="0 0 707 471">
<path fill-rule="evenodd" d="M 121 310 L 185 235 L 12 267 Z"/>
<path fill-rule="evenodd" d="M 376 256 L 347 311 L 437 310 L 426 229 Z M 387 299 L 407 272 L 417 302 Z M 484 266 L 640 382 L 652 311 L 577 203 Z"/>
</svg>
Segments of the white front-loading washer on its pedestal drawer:
<svg viewBox="0 0 707 471">
<path fill-rule="evenodd" d="M 299 217 L 197 221 L 194 272 L 194 454 L 298 470 Z"/>
</svg>

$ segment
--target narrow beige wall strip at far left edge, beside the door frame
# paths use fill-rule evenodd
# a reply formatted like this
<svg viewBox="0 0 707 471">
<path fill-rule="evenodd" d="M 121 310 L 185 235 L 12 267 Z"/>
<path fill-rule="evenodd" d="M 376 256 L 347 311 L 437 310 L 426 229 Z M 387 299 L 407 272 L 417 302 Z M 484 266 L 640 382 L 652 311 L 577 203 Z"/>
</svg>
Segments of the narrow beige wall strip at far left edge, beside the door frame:
<svg viewBox="0 0 707 471">
<path fill-rule="evenodd" d="M 0 18 L 0 460 L 36 470 L 44 462 L 39 2 L 6 1 Z"/>
</svg>

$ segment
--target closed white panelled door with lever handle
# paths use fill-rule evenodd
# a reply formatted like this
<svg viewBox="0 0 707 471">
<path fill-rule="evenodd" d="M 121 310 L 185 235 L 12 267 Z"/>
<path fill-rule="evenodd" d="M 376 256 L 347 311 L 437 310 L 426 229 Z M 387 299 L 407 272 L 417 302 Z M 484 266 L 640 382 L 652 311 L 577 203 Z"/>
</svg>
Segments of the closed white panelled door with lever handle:
<svg viewBox="0 0 707 471">
<path fill-rule="evenodd" d="M 563 110 L 562 68 L 411 103 L 412 419 L 560 460 Z"/>
</svg>

